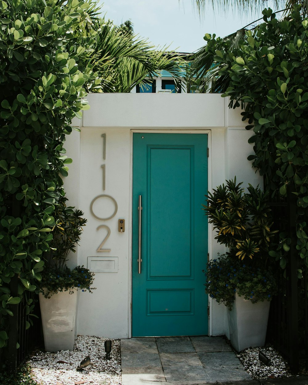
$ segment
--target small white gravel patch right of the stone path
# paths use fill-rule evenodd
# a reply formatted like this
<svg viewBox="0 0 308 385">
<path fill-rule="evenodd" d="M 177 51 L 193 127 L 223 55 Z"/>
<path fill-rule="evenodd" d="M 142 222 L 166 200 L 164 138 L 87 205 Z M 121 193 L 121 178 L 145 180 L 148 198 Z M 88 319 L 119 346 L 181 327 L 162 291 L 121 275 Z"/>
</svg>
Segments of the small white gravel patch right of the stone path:
<svg viewBox="0 0 308 385">
<path fill-rule="evenodd" d="M 263 353 L 269 359 L 268 365 L 259 360 L 259 352 Z M 290 377 L 287 363 L 272 347 L 268 348 L 249 348 L 239 352 L 237 357 L 252 378 L 280 378 Z M 270 365 L 271 364 L 271 365 Z"/>
</svg>

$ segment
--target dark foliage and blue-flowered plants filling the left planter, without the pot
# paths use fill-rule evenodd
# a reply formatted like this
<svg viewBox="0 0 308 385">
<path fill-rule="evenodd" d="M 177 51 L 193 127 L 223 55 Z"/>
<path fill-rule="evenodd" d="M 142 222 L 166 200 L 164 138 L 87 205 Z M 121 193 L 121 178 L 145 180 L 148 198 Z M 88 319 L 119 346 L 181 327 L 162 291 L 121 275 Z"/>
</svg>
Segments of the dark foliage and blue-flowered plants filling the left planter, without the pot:
<svg viewBox="0 0 308 385">
<path fill-rule="evenodd" d="M 74 207 L 67 207 L 67 198 L 59 199 L 55 207 L 55 226 L 52 229 L 52 241 L 50 244 L 51 253 L 45 256 L 45 266 L 40 281 L 40 293 L 45 298 L 50 298 L 59 291 L 74 293 L 74 289 L 89 291 L 92 293 L 91 285 L 94 280 L 94 273 L 82 266 L 70 269 L 67 258 L 70 251 L 75 253 L 82 227 L 87 223 L 83 218 L 82 211 L 74 210 Z"/>
</svg>

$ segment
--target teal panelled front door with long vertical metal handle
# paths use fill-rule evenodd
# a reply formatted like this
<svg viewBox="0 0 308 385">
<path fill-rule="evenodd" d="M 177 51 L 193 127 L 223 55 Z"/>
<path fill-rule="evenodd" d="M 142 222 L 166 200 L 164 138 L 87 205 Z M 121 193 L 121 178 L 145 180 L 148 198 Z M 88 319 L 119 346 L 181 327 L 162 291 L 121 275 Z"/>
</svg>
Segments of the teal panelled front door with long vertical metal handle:
<svg viewBox="0 0 308 385">
<path fill-rule="evenodd" d="M 133 136 L 132 336 L 208 334 L 206 134 Z M 141 236 L 139 236 L 141 196 Z M 139 239 L 141 273 L 139 273 Z"/>
</svg>

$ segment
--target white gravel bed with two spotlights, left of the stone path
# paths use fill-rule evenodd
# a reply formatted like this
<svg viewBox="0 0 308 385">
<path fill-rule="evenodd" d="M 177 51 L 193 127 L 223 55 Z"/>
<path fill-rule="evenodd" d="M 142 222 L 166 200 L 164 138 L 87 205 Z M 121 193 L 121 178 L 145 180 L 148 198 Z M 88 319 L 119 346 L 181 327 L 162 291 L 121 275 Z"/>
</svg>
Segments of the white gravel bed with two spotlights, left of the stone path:
<svg viewBox="0 0 308 385">
<path fill-rule="evenodd" d="M 121 385 L 120 340 L 111 340 L 110 360 L 106 360 L 107 338 L 77 336 L 74 350 L 35 352 L 28 360 L 32 378 L 40 385 Z M 77 370 L 90 355 L 90 365 Z"/>
</svg>

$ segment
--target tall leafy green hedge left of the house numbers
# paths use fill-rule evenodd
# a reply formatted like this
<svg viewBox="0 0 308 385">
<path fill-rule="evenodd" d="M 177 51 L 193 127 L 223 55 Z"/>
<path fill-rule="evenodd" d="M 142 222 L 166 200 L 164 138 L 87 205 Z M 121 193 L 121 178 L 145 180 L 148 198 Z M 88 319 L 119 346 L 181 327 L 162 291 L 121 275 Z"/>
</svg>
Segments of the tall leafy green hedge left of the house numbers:
<svg viewBox="0 0 308 385">
<path fill-rule="evenodd" d="M 0 1 L 0 347 L 7 343 L 10 305 L 41 280 L 54 205 L 64 196 L 62 176 L 72 161 L 65 135 L 88 107 L 84 87 L 100 82 L 87 65 L 88 8 L 83 0 Z M 27 313 L 32 306 L 29 300 Z"/>
</svg>

